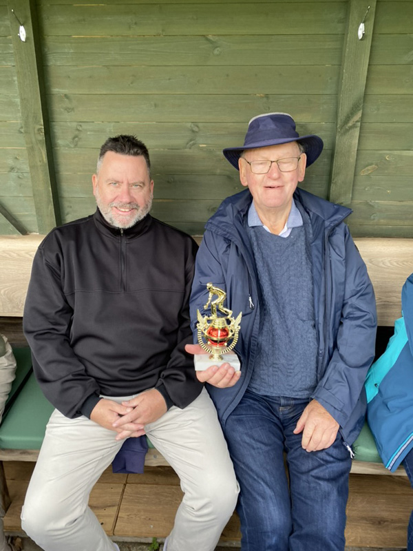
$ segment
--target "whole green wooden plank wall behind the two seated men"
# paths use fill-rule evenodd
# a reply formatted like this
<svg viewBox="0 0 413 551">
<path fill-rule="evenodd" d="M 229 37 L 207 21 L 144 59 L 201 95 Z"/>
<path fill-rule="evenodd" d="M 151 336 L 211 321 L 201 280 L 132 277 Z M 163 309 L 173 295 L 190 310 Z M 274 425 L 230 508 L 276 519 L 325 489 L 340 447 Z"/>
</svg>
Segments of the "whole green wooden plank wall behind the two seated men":
<svg viewBox="0 0 413 551">
<path fill-rule="evenodd" d="M 222 148 L 281 111 L 325 142 L 306 189 L 356 236 L 412 237 L 412 29 L 413 1 L 0 0 L 0 233 L 94 211 L 98 148 L 133 133 L 154 216 L 200 234 L 241 189 Z"/>
</svg>

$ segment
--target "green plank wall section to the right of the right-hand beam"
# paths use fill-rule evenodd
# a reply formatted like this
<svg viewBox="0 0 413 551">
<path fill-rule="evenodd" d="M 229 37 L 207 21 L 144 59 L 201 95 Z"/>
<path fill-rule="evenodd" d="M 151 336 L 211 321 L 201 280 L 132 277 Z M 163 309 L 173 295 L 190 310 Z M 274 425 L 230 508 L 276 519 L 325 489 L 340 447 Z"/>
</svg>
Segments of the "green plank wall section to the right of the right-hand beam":
<svg viewBox="0 0 413 551">
<path fill-rule="evenodd" d="M 351 207 L 354 235 L 413 236 L 413 2 L 378 1 Z"/>
</svg>

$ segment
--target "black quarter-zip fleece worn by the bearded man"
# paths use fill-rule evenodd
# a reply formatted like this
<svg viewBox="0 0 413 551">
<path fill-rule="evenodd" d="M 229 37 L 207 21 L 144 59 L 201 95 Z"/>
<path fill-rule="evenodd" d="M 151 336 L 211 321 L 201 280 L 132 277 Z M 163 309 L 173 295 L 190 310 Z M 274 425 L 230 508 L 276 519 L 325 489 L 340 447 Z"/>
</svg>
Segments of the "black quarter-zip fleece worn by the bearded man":
<svg viewBox="0 0 413 551">
<path fill-rule="evenodd" d="M 23 329 L 47 399 L 90 416 L 99 395 L 157 388 L 184 408 L 202 385 L 184 351 L 195 241 L 150 215 L 129 229 L 100 211 L 52 230 L 32 267 Z"/>
</svg>

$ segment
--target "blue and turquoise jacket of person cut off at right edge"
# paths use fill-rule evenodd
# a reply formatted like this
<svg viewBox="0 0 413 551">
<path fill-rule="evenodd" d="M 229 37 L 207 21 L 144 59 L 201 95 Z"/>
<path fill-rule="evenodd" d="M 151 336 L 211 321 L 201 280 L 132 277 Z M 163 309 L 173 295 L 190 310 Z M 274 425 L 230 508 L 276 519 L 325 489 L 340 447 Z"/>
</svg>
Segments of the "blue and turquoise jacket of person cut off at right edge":
<svg viewBox="0 0 413 551">
<path fill-rule="evenodd" d="M 392 472 L 413 449 L 413 273 L 403 285 L 401 305 L 403 318 L 366 380 L 368 424 Z"/>
</svg>

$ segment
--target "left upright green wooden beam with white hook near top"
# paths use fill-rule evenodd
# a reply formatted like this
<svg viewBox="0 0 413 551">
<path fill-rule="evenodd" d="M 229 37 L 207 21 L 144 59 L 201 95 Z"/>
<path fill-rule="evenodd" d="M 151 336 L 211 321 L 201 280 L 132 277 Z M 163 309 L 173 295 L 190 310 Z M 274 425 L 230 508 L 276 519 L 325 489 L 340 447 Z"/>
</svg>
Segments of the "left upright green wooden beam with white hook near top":
<svg viewBox="0 0 413 551">
<path fill-rule="evenodd" d="M 61 223 L 61 215 L 45 105 L 36 2 L 8 0 L 8 12 L 37 225 L 39 233 L 47 233 Z M 18 36 L 17 18 L 24 25 L 25 42 Z"/>
</svg>

